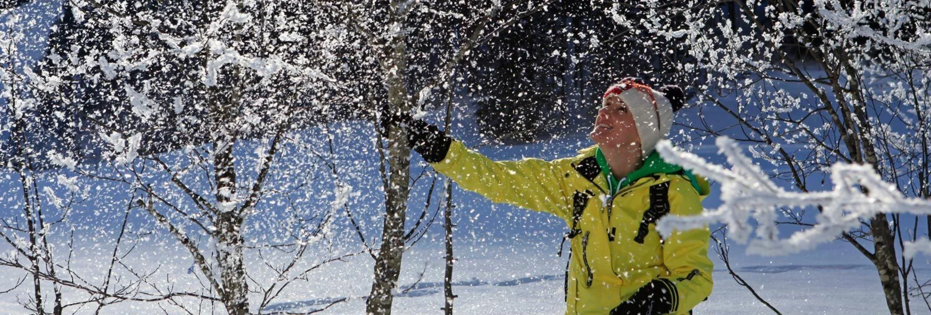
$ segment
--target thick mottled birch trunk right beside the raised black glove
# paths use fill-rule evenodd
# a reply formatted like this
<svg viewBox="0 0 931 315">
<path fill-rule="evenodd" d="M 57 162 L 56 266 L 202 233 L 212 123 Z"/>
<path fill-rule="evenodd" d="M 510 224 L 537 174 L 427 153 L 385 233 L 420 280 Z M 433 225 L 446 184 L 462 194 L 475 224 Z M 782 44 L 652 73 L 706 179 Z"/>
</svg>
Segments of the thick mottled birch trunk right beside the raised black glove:
<svg viewBox="0 0 931 315">
<path fill-rule="evenodd" d="M 389 44 L 389 60 L 385 62 L 390 110 L 408 112 L 406 45 L 398 34 Z M 411 148 L 407 146 L 407 130 L 388 128 L 388 186 L 385 191 L 385 223 L 382 227 L 382 245 L 375 258 L 374 281 L 366 304 L 366 314 L 389 315 L 393 302 L 392 291 L 398 285 L 401 256 L 404 253 L 404 221 L 411 165 Z"/>
</svg>

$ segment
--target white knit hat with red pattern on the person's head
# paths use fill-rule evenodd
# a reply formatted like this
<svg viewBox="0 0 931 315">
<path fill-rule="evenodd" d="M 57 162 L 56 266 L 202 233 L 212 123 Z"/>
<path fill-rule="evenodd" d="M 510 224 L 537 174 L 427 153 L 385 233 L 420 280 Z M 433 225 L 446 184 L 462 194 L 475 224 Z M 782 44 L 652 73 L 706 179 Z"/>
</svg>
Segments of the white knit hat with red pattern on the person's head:
<svg viewBox="0 0 931 315">
<path fill-rule="evenodd" d="M 634 116 L 637 133 L 641 138 L 641 151 L 643 158 L 646 158 L 653 153 L 656 143 L 669 134 L 672 127 L 672 103 L 666 94 L 636 82 L 633 78 L 625 78 L 604 92 L 602 102 L 607 103 L 608 98 L 614 95 L 627 104 L 630 114 Z"/>
</svg>

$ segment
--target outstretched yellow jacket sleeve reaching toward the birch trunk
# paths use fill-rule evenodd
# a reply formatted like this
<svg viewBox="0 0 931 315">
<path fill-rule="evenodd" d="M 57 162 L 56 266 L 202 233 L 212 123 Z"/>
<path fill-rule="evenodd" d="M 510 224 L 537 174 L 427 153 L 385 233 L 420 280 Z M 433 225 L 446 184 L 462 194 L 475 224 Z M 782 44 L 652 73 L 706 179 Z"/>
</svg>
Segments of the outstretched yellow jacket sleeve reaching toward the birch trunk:
<svg viewBox="0 0 931 315">
<path fill-rule="evenodd" d="M 571 196 L 566 192 L 570 159 L 546 161 L 492 161 L 458 141 L 450 144 L 446 158 L 433 168 L 466 190 L 492 202 L 504 202 L 540 212 L 551 212 L 571 220 Z"/>
</svg>

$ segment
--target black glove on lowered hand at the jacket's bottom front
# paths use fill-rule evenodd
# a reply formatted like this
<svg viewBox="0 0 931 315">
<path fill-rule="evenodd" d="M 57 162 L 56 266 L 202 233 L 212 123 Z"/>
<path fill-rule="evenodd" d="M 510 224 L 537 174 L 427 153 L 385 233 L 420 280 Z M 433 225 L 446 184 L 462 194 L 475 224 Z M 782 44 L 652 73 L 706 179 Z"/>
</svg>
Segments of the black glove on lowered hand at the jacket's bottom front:
<svg viewBox="0 0 931 315">
<path fill-rule="evenodd" d="M 672 311 L 675 284 L 654 279 L 642 286 L 627 301 L 611 310 L 611 315 L 662 315 Z"/>
</svg>

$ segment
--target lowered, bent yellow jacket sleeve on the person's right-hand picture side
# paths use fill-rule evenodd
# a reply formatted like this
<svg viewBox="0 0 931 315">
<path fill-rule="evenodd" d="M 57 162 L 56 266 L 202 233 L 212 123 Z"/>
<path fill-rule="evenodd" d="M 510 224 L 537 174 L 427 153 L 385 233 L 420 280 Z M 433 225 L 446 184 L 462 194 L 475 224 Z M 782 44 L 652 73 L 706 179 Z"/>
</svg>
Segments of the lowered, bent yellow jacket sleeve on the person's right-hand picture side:
<svg viewBox="0 0 931 315">
<path fill-rule="evenodd" d="M 669 213 L 695 215 L 702 212 L 701 199 L 687 180 L 673 179 L 669 183 Z M 673 288 L 673 314 L 695 308 L 711 294 L 711 270 L 708 259 L 710 242 L 708 226 L 675 231 L 663 243 L 663 260 L 670 275 L 663 277 Z"/>
</svg>

